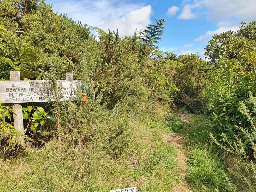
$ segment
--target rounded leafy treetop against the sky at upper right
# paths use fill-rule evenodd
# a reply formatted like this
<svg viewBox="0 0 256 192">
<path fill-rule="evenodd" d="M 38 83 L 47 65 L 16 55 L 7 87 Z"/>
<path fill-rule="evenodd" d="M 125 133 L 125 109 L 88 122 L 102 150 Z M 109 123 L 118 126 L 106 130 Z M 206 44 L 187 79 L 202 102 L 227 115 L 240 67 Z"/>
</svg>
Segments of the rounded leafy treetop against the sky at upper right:
<svg viewBox="0 0 256 192">
<path fill-rule="evenodd" d="M 204 55 L 215 66 L 221 59 L 235 59 L 244 71 L 255 70 L 256 21 L 242 22 L 237 32 L 226 31 L 212 36 Z"/>
</svg>

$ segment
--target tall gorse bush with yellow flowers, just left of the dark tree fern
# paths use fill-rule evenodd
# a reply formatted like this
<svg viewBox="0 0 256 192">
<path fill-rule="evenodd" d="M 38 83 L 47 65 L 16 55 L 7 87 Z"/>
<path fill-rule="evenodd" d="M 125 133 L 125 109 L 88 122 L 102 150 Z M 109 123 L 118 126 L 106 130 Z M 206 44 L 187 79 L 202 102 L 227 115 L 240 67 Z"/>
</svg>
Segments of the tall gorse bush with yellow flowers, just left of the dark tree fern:
<svg viewBox="0 0 256 192">
<path fill-rule="evenodd" d="M 108 108 L 117 102 L 131 106 L 143 100 L 147 88 L 140 78 L 143 69 L 138 62 L 138 53 L 133 49 L 136 44 L 132 38 L 121 40 L 118 31 L 109 31 L 101 34 L 99 45 L 101 63 L 96 68 L 93 81 L 104 94 L 103 101 L 108 102 Z"/>
</svg>

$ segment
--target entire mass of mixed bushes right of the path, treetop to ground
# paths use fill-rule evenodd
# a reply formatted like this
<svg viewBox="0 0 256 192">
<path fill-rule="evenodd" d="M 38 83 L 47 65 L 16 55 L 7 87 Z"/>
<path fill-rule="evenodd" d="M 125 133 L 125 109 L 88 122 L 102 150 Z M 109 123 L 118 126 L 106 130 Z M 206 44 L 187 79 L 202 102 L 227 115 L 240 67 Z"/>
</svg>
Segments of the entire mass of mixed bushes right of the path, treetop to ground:
<svg viewBox="0 0 256 192">
<path fill-rule="evenodd" d="M 214 35 L 206 46 L 213 69 L 205 95 L 211 138 L 227 153 L 233 182 L 255 191 L 256 22 L 241 24 L 237 32 Z"/>
</svg>

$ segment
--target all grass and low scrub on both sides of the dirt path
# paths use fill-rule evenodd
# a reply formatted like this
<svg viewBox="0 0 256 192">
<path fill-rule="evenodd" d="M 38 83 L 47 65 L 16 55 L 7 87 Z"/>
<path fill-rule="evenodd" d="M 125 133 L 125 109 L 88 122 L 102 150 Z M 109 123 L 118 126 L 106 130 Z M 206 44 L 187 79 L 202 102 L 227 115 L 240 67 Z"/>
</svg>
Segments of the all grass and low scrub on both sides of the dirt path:
<svg viewBox="0 0 256 192">
<path fill-rule="evenodd" d="M 160 107 L 139 118 L 118 110 L 78 110 L 74 122 L 79 124 L 72 125 L 62 115 L 61 142 L 53 138 L 41 148 L 27 149 L 24 158 L 0 160 L 0 191 L 174 191 L 180 182 L 177 152 L 163 139 L 172 131 L 187 139 L 186 180 L 193 191 L 255 191 L 246 183 L 255 181 L 254 164 L 223 156 L 209 139 L 206 116 L 182 123 Z"/>
</svg>

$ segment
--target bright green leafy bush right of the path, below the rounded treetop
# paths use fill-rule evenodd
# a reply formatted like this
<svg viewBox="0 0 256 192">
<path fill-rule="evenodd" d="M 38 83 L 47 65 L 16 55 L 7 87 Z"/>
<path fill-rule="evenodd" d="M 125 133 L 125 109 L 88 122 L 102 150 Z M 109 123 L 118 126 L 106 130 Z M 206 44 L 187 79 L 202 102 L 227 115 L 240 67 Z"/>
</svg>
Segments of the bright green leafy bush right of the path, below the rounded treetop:
<svg viewBox="0 0 256 192">
<path fill-rule="evenodd" d="M 218 68 L 210 74 L 211 83 L 205 92 L 209 99 L 209 125 L 213 136 L 222 142 L 236 142 L 236 137 L 239 137 L 245 142 L 247 152 L 251 151 L 252 145 L 247 143 L 240 128 L 253 134 L 248 129 L 252 124 L 241 112 L 240 103 L 243 102 L 249 111 L 253 110 L 254 105 L 248 102 L 248 94 L 256 93 L 255 77 L 253 71 L 244 72 L 238 61 L 221 60 Z M 251 115 L 255 117 L 255 114 Z"/>
</svg>

